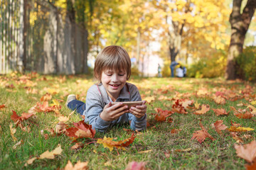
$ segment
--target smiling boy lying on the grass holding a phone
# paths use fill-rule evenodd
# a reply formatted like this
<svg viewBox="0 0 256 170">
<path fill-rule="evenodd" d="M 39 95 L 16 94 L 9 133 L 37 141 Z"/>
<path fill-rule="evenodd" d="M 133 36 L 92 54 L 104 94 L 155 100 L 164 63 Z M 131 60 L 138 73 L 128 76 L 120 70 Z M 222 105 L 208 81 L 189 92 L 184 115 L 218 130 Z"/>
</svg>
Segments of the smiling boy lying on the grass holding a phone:
<svg viewBox="0 0 256 170">
<path fill-rule="evenodd" d="M 100 132 L 122 123 L 130 123 L 132 130 L 145 130 L 146 101 L 142 101 L 137 86 L 127 83 L 130 75 L 131 60 L 127 51 L 117 45 L 107 46 L 96 57 L 94 76 L 99 83 L 88 89 L 86 103 L 70 94 L 66 105 L 85 115 L 85 122 Z M 122 103 L 127 101 L 142 101 L 142 104 L 129 107 Z"/>
</svg>

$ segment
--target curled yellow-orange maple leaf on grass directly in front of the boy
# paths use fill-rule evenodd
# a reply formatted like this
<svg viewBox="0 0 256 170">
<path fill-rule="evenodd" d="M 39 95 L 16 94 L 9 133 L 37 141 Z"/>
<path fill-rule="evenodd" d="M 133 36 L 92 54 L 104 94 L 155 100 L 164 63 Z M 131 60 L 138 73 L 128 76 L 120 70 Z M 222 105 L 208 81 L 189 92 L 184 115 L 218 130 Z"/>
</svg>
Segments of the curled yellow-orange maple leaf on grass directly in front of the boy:
<svg viewBox="0 0 256 170">
<path fill-rule="evenodd" d="M 132 133 L 132 136 L 130 138 L 120 141 L 113 141 L 113 138 L 111 137 L 104 137 L 103 139 L 98 139 L 97 143 L 100 143 L 104 147 L 107 147 L 108 149 L 110 149 L 110 151 L 112 151 L 114 147 L 116 147 L 117 149 L 125 149 L 124 147 L 128 147 L 132 142 L 134 142 L 135 137 L 136 136 L 134 136 L 134 133 Z"/>
</svg>

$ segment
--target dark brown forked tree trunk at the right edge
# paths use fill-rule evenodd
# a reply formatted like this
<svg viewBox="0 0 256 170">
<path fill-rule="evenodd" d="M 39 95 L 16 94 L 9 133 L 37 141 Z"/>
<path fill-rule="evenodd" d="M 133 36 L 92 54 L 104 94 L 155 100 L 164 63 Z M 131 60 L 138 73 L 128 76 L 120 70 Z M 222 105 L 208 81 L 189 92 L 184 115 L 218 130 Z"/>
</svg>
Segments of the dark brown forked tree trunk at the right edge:
<svg viewBox="0 0 256 170">
<path fill-rule="evenodd" d="M 256 0 L 248 0 L 245 8 L 240 13 L 242 0 L 233 0 L 233 11 L 230 14 L 231 38 L 228 50 L 228 63 L 225 70 L 225 79 L 235 79 L 235 57 L 242 53 L 245 42 L 245 34 L 250 26 L 253 13 L 255 12 Z"/>
</svg>

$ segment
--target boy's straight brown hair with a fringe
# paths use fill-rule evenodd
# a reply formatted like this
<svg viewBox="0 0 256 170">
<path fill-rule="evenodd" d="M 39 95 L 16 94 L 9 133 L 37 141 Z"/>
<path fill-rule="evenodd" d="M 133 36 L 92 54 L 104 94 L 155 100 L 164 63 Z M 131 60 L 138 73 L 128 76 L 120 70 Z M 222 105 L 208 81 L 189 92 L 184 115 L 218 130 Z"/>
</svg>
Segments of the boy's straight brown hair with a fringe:
<svg viewBox="0 0 256 170">
<path fill-rule="evenodd" d="M 97 55 L 94 67 L 94 77 L 101 82 L 102 72 L 105 69 L 125 71 L 127 80 L 131 76 L 131 60 L 128 52 L 118 45 L 110 45 Z"/>
</svg>

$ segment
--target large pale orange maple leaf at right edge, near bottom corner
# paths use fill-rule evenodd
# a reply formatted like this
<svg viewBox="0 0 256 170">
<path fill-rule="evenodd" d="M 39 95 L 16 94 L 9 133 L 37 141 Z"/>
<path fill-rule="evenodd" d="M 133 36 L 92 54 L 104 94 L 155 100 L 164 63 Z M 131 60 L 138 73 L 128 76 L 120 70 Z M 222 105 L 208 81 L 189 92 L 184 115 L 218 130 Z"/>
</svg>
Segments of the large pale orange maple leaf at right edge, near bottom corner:
<svg viewBox="0 0 256 170">
<path fill-rule="evenodd" d="M 252 163 L 256 158 L 256 141 L 252 141 L 247 145 L 235 145 L 238 157 L 245 159 L 245 161 Z"/>
</svg>

